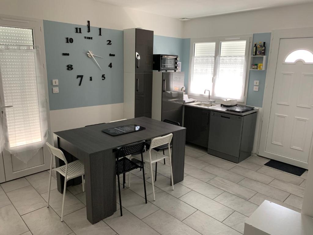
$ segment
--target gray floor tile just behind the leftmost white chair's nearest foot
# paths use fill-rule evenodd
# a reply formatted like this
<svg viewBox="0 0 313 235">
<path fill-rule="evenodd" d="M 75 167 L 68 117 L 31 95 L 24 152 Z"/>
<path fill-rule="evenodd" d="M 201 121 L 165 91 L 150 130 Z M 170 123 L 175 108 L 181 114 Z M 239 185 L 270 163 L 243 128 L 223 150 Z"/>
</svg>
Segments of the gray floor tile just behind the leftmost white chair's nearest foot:
<svg viewBox="0 0 313 235">
<path fill-rule="evenodd" d="M 48 192 L 41 194 L 44 200 L 48 200 Z M 62 213 L 62 201 L 63 201 L 63 194 L 59 193 L 57 189 L 52 190 L 50 193 L 50 206 L 54 209 L 55 212 L 61 216 Z M 64 202 L 64 213 L 63 215 L 67 215 L 74 211 L 77 211 L 81 208 L 85 207 L 85 205 L 78 200 L 70 191 L 66 190 L 65 194 L 65 202 Z"/>
</svg>

